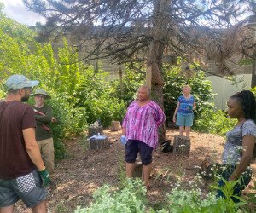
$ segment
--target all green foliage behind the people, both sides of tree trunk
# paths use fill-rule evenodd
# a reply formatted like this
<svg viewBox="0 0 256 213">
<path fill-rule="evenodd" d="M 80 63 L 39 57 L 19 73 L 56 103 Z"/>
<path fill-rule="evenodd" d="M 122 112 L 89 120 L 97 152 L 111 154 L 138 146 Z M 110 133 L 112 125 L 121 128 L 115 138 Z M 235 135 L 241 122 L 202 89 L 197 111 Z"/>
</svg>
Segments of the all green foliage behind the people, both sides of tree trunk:
<svg viewBox="0 0 256 213">
<path fill-rule="evenodd" d="M 123 78 L 123 94 L 119 80 L 108 80 L 108 73 L 94 72 L 92 66 L 79 61 L 79 55 L 65 38 L 56 51 L 49 43 L 37 43 L 36 32 L 5 17 L 0 12 L 0 97 L 5 95 L 3 82 L 12 74 L 23 74 L 38 79 L 38 88 L 52 96 L 48 104 L 53 107 L 58 122 L 52 124 L 56 158 L 64 158 L 63 141 L 84 134 L 88 125 L 100 119 L 104 127 L 112 120 L 125 116 L 126 107 L 136 98 L 137 88 L 144 83 L 145 73 L 126 68 Z M 180 60 L 180 59 L 179 59 Z M 195 130 L 224 135 L 234 124 L 224 112 L 215 112 L 212 102 L 212 86 L 204 72 L 190 65 L 193 75 L 187 78 L 181 65 L 164 67 L 164 107 L 166 123 L 172 115 L 184 84 L 192 87 L 197 108 Z M 33 101 L 30 101 L 33 104 Z M 211 116 L 209 116 L 211 115 Z"/>
</svg>

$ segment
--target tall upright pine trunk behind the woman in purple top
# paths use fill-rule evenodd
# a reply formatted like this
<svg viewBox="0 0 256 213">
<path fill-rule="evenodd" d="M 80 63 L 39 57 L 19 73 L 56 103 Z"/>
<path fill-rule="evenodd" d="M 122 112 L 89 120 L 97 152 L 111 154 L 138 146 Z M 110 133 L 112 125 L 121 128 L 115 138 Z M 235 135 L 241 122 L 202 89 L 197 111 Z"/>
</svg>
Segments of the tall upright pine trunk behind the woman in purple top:
<svg viewBox="0 0 256 213">
<path fill-rule="evenodd" d="M 152 89 L 152 99 L 162 108 L 164 111 L 164 95 L 163 86 L 164 78 L 162 73 L 162 58 L 165 49 L 165 40 L 168 37 L 166 26 L 168 19 L 168 9 L 170 0 L 156 0 L 154 1 L 153 12 L 153 26 L 152 37 L 148 50 L 148 63 L 146 72 L 146 83 L 149 88 Z M 165 124 L 160 127 L 159 141 L 166 141 L 166 128 Z"/>
</svg>

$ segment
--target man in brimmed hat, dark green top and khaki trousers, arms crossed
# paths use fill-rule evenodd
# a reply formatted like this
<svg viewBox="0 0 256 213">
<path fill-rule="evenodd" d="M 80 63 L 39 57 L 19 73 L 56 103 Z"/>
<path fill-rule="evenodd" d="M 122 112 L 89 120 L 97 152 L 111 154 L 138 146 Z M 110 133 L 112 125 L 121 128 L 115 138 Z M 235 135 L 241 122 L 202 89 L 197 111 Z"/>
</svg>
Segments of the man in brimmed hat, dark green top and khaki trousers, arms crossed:
<svg viewBox="0 0 256 213">
<path fill-rule="evenodd" d="M 52 117 L 52 108 L 45 104 L 45 100 L 50 99 L 50 95 L 48 95 L 44 89 L 37 89 L 32 96 L 34 96 L 35 99 L 35 105 L 33 108 L 37 123 L 36 140 L 44 158 L 46 169 L 49 171 L 49 175 L 51 176 L 55 169 L 55 149 L 52 131 L 49 129 L 49 124 L 55 121 L 55 118 Z"/>
</svg>

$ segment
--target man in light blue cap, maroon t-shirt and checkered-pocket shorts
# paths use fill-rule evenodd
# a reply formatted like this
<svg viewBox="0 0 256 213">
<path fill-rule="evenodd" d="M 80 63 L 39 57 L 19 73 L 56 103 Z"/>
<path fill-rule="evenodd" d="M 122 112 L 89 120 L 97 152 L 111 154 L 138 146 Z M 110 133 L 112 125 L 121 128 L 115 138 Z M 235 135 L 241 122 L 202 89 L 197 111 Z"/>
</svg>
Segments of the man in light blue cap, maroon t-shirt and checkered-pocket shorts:
<svg viewBox="0 0 256 213">
<path fill-rule="evenodd" d="M 31 81 L 12 75 L 4 83 L 7 96 L 0 101 L 0 212 L 13 212 L 22 199 L 33 212 L 46 212 L 46 189 L 49 173 L 35 139 L 36 122 L 28 101 Z"/>
</svg>

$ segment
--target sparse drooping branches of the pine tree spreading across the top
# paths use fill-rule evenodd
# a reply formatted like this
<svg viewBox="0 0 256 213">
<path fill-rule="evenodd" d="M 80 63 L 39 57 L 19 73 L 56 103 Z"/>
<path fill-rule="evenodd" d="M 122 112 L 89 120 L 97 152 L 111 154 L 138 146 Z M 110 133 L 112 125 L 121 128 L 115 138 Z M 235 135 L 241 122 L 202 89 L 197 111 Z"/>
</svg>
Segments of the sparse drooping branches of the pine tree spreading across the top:
<svg viewBox="0 0 256 213">
<path fill-rule="evenodd" d="M 161 49 L 164 59 L 170 63 L 177 56 L 191 59 L 191 55 L 195 57 L 203 50 L 212 50 L 212 47 L 220 49 L 214 52 L 219 55 L 224 44 L 219 42 L 223 40 L 223 31 L 216 29 L 235 27 L 245 18 L 245 14 L 253 14 L 255 8 L 253 0 L 24 2 L 28 8 L 47 18 L 46 29 L 49 32 L 53 28 L 60 32 L 72 32 L 80 42 L 78 45 L 88 39 L 95 40 L 95 48 L 100 50 L 90 51 L 86 59 L 96 59 L 100 52 L 102 57 L 118 63 L 147 61 L 150 43 L 157 41 L 163 45 Z M 234 34 L 234 31 L 231 33 Z M 245 47 L 240 46 L 239 50 L 243 48 Z M 214 58 L 211 54 L 208 56 L 214 60 L 224 59 Z"/>
</svg>

